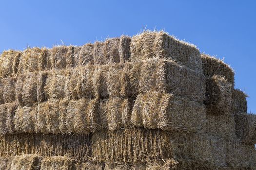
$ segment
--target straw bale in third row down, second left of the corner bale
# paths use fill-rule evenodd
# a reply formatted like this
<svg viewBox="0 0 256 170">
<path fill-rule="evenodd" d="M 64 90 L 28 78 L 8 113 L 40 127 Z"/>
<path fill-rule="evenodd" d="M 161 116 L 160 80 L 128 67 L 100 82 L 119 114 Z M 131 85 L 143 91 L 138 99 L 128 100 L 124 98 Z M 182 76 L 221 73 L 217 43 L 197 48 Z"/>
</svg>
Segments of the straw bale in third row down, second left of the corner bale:
<svg viewBox="0 0 256 170">
<path fill-rule="evenodd" d="M 97 99 L 79 99 L 68 103 L 66 116 L 67 133 L 89 134 L 97 129 L 97 102 Z"/>
</svg>

